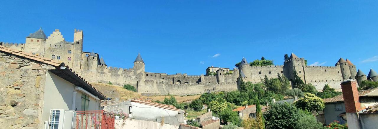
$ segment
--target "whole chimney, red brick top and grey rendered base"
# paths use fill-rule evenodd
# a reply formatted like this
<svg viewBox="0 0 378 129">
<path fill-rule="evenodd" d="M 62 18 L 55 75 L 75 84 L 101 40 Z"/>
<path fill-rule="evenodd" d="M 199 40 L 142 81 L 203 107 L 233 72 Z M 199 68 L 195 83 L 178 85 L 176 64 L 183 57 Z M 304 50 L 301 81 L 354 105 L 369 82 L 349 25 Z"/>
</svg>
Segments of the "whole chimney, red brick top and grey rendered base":
<svg viewBox="0 0 378 129">
<path fill-rule="evenodd" d="M 360 129 L 358 111 L 362 109 L 358 101 L 357 81 L 341 82 L 342 96 L 344 97 L 345 111 L 350 129 Z"/>
</svg>

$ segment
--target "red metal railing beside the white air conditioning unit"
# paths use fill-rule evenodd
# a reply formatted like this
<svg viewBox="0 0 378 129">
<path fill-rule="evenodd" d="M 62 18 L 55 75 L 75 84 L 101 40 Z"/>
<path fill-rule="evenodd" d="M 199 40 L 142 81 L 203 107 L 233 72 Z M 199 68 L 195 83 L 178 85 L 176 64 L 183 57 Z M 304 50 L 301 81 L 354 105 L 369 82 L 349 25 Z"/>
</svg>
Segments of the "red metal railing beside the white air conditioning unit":
<svg viewBox="0 0 378 129">
<path fill-rule="evenodd" d="M 76 111 L 76 129 L 114 129 L 114 115 L 104 110 Z"/>
</svg>

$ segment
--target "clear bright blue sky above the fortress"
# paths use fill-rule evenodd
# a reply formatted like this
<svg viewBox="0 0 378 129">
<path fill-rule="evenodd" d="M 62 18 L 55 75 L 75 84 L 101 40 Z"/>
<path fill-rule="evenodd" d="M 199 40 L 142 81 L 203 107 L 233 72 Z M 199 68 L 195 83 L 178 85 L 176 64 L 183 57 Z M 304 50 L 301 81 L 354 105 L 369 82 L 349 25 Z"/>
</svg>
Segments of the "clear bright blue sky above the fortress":
<svg viewBox="0 0 378 129">
<path fill-rule="evenodd" d="M 132 68 L 138 52 L 148 72 L 204 74 L 242 60 L 274 60 L 294 52 L 308 65 L 348 58 L 378 71 L 378 1 L 3 1 L 0 41 L 24 43 L 42 26 L 73 41 L 108 66 Z M 214 56 L 218 55 L 218 56 Z"/>
</svg>

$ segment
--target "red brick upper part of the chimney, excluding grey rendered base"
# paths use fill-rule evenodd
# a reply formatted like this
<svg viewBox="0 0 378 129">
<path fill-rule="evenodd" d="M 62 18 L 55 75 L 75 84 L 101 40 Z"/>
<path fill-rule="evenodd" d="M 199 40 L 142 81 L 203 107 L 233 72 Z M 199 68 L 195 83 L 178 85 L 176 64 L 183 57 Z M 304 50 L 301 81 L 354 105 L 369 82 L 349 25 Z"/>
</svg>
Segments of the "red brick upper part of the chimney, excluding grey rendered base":
<svg viewBox="0 0 378 129">
<path fill-rule="evenodd" d="M 345 111 L 356 113 L 361 109 L 361 103 L 358 102 L 357 81 L 348 80 L 341 82 L 342 95 L 344 97 Z"/>
</svg>

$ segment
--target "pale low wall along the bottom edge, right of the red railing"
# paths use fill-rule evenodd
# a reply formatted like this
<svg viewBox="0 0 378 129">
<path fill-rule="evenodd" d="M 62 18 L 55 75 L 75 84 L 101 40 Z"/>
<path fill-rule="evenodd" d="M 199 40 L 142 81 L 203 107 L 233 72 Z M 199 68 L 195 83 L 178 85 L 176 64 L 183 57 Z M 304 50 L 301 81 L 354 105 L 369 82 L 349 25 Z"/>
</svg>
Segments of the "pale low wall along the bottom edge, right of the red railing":
<svg viewBox="0 0 378 129">
<path fill-rule="evenodd" d="M 178 129 L 180 126 L 171 124 L 161 124 L 155 121 L 136 120 L 127 118 L 126 120 L 115 120 L 115 129 Z"/>
</svg>

